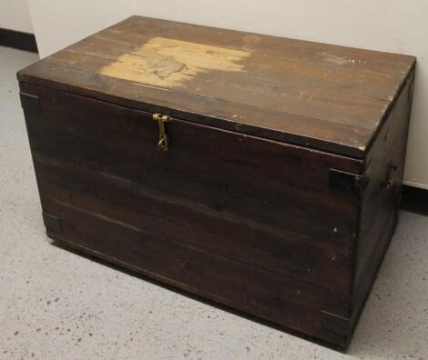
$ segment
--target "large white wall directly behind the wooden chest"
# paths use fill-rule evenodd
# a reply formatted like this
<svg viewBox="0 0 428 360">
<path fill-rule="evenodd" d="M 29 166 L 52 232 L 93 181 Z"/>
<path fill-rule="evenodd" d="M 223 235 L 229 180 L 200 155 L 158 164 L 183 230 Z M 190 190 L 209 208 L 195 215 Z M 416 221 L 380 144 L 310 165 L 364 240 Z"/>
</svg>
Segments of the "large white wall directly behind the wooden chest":
<svg viewBox="0 0 428 360">
<path fill-rule="evenodd" d="M 5 0 L 2 0 L 5 1 Z M 428 188 L 427 0 L 29 0 L 46 56 L 128 15 L 418 56 L 407 184 Z"/>
</svg>

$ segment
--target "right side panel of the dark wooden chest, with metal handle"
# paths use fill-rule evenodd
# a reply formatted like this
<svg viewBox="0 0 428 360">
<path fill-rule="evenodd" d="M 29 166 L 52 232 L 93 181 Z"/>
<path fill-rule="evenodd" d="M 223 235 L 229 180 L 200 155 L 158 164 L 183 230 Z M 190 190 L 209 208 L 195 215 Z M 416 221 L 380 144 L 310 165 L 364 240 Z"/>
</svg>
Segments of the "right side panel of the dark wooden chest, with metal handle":
<svg viewBox="0 0 428 360">
<path fill-rule="evenodd" d="M 413 96 L 409 75 L 367 156 L 355 259 L 352 306 L 358 313 L 391 241 L 402 193 L 405 150 Z"/>
</svg>

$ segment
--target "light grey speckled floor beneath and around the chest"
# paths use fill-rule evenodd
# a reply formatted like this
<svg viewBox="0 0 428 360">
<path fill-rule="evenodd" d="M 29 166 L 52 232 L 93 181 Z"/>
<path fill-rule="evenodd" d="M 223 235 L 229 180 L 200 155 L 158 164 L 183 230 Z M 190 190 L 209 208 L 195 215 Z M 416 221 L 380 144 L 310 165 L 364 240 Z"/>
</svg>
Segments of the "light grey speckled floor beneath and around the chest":
<svg viewBox="0 0 428 360">
<path fill-rule="evenodd" d="M 428 359 L 428 217 L 403 212 L 348 355 L 50 245 L 0 47 L 1 359 Z"/>
</svg>

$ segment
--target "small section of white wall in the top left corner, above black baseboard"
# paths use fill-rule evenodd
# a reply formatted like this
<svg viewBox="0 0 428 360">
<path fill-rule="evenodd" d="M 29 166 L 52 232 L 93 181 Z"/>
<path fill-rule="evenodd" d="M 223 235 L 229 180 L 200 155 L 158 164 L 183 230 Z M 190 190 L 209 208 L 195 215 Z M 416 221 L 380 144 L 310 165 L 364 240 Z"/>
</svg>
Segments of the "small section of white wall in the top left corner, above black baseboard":
<svg viewBox="0 0 428 360">
<path fill-rule="evenodd" d="M 0 0 L 0 28 L 33 34 L 27 0 Z"/>
</svg>

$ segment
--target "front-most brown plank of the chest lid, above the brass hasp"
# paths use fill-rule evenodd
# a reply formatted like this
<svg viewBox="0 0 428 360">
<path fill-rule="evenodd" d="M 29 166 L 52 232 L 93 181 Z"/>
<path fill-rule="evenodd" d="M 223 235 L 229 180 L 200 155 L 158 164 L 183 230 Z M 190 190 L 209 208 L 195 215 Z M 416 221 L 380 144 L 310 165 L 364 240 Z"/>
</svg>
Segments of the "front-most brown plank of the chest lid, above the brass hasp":
<svg viewBox="0 0 428 360">
<path fill-rule="evenodd" d="M 40 76 L 40 77 L 39 77 Z M 58 79 L 57 76 L 61 78 Z M 340 125 L 331 122 L 309 118 L 301 115 L 279 114 L 273 111 L 260 110 L 254 106 L 246 106 L 213 98 L 203 98 L 198 101 L 198 109 L 175 109 L 174 102 L 189 104 L 189 95 L 174 92 L 174 96 L 162 89 L 138 86 L 132 88 L 125 80 L 117 80 L 109 76 L 91 75 L 91 89 L 81 87 L 79 93 L 87 97 L 96 97 L 112 104 L 124 105 L 148 112 L 160 112 L 177 118 L 185 118 L 201 125 L 210 125 L 244 135 L 256 135 L 284 143 L 305 145 L 311 148 L 331 151 L 339 155 L 350 155 L 360 158 L 365 151 L 365 145 L 372 136 L 372 131 Z M 61 68 L 57 65 L 36 63 L 31 69 L 21 75 L 22 88 L 25 84 L 37 84 L 44 87 L 69 91 L 69 85 L 81 86 L 87 81 L 87 73 L 71 68 Z M 59 82 L 57 82 L 59 81 Z M 66 85 L 69 84 L 69 85 Z M 116 90 L 128 94 L 127 99 L 117 97 Z M 93 89 L 96 89 L 96 93 Z M 174 98 L 174 100 L 172 100 Z M 158 105 L 159 99 L 163 105 Z M 197 112 L 200 111 L 200 113 Z M 239 111 L 245 112 L 238 115 Z M 239 120 L 228 120 L 227 114 L 239 116 Z M 201 115 L 203 114 L 203 115 Z M 259 119 L 264 119 L 265 127 L 260 127 Z"/>
</svg>

